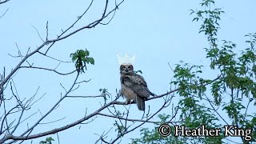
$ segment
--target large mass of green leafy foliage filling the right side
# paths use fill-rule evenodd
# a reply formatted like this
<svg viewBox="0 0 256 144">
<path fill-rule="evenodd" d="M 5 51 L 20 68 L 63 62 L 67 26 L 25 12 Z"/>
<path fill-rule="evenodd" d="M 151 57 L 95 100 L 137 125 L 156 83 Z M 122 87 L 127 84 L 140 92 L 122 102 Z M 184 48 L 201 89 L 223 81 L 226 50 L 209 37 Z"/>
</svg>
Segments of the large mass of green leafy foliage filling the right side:
<svg viewBox="0 0 256 144">
<path fill-rule="evenodd" d="M 206 58 L 210 59 L 210 69 L 218 71 L 214 80 L 200 77 L 203 74 L 202 66 L 195 66 L 181 62 L 174 69 L 173 82 L 178 85 L 177 94 L 181 97 L 178 102 L 179 125 L 186 128 L 197 128 L 205 125 L 207 128 L 222 128 L 223 125 L 234 125 L 242 129 L 256 131 L 256 113 L 249 114 L 250 107 L 256 106 L 256 33 L 246 34 L 246 43 L 249 46 L 241 53 L 235 53 L 236 45 L 233 42 L 222 40 L 218 42 L 220 15 L 224 13 L 219 8 L 211 9 L 214 0 L 202 0 L 201 6 L 205 10 L 191 10 L 195 17 L 192 21 L 202 20 L 199 33 L 207 37 L 210 46 L 205 48 Z M 205 105 L 204 103 L 208 103 Z M 254 102 L 253 105 L 250 105 Z M 223 118 L 218 113 L 222 109 L 230 119 Z M 169 115 L 160 117 L 168 122 Z M 132 139 L 132 143 L 221 143 L 226 142 L 223 134 L 218 137 L 178 137 L 170 135 L 162 137 L 158 134 L 157 127 L 141 130 L 142 138 Z M 256 142 L 256 134 L 252 133 L 252 142 Z M 243 137 L 240 137 L 246 143 Z"/>
</svg>

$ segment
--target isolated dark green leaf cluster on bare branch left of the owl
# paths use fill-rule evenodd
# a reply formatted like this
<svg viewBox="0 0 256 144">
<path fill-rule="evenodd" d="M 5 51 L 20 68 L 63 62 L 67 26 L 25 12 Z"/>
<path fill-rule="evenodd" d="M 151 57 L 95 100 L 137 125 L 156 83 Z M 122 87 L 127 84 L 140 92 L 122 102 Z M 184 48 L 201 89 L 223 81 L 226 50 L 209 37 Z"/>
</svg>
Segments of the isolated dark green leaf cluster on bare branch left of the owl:
<svg viewBox="0 0 256 144">
<path fill-rule="evenodd" d="M 70 54 L 72 61 L 75 62 L 75 67 L 78 70 L 78 73 L 85 72 L 83 68 L 86 68 L 86 63 L 94 65 L 94 58 L 88 57 L 89 55 L 90 52 L 88 50 L 77 50 L 75 53 Z"/>
</svg>

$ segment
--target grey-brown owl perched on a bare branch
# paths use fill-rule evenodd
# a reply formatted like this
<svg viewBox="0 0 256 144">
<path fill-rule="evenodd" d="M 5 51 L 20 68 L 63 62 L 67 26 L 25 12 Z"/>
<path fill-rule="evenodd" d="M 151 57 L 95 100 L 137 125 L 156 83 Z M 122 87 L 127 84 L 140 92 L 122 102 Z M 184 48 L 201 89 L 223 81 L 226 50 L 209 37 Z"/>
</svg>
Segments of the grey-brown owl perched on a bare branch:
<svg viewBox="0 0 256 144">
<path fill-rule="evenodd" d="M 120 66 L 121 95 L 126 98 L 126 105 L 131 101 L 137 103 L 138 110 L 145 110 L 145 100 L 150 95 L 155 96 L 147 88 L 145 79 L 134 73 L 134 66 L 131 64 Z"/>
</svg>

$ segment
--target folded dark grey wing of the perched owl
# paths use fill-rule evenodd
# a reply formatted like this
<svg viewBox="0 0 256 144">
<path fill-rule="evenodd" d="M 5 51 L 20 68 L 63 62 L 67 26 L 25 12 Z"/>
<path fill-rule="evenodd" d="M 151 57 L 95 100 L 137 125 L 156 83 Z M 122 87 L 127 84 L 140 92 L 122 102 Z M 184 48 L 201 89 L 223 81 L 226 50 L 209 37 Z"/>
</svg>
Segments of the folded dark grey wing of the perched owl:
<svg viewBox="0 0 256 144">
<path fill-rule="evenodd" d="M 149 98 L 151 95 L 150 90 L 146 86 L 146 81 L 141 75 L 126 75 L 121 79 L 121 82 L 131 90 L 134 90 L 134 93 L 138 94 L 141 98 Z"/>
</svg>

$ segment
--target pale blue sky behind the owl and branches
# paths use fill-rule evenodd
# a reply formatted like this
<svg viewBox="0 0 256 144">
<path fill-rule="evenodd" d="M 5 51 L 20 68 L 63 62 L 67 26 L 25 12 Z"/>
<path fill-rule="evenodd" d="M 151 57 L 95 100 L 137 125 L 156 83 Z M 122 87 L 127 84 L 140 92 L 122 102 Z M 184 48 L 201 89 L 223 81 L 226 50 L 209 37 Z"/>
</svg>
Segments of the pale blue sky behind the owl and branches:
<svg viewBox="0 0 256 144">
<path fill-rule="evenodd" d="M 120 89 L 119 65 L 117 54 L 136 54 L 134 69 L 142 70 L 142 76 L 146 79 L 148 87 L 155 94 L 164 94 L 170 89 L 170 81 L 174 76 L 168 66 L 174 67 L 181 60 L 194 65 L 206 66 L 203 77 L 216 78 L 217 73 L 209 70 L 209 60 L 206 59 L 204 47 L 208 46 L 206 36 L 198 34 L 199 22 L 191 22 L 193 16 L 190 16 L 190 10 L 197 10 L 201 7 L 201 1 L 170 1 L 162 0 L 126 0 L 119 6 L 112 22 L 106 26 L 96 26 L 94 29 L 82 30 L 70 38 L 61 42 L 56 42 L 48 53 L 51 57 L 70 61 L 70 54 L 78 49 L 87 49 L 95 60 L 94 66 L 88 66 L 85 74 L 81 75 L 79 80 L 88 80 L 90 82 L 83 84 L 73 95 L 98 95 L 100 88 L 106 88 L 110 94 L 115 95 L 115 90 Z M 72 24 L 78 15 L 82 14 L 89 6 L 90 1 L 15 1 L 11 0 L 6 4 L 0 5 L 0 15 L 6 9 L 9 9 L 2 18 L 0 18 L 0 69 L 6 67 L 8 74 L 14 66 L 18 64 L 20 58 L 12 58 L 8 54 L 17 55 L 17 43 L 22 54 L 26 54 L 27 49 L 37 48 L 42 44 L 42 40 L 34 27 L 37 28 L 42 38 L 46 38 L 46 22 L 49 22 L 49 39 L 56 38 Z M 91 9 L 85 15 L 78 25 L 72 30 L 87 25 L 89 22 L 101 17 L 105 1 L 95 1 Z M 112 10 L 114 1 L 110 1 L 109 10 Z M 237 50 L 246 48 L 245 34 L 256 32 L 255 7 L 256 1 L 216 1 L 216 6 L 222 8 L 225 14 L 222 14 L 220 22 L 221 29 L 218 33 L 220 40 L 230 40 L 237 44 Z M 106 18 L 106 21 L 110 18 Z M 43 51 L 46 50 L 42 49 Z M 35 54 L 29 58 L 29 62 L 34 66 L 42 66 L 54 69 L 58 62 L 52 59 Z M 24 64 L 26 66 L 26 64 Z M 69 72 L 74 70 L 73 63 L 64 63 L 58 66 L 58 71 Z M 14 77 L 14 82 L 21 98 L 31 97 L 40 86 L 38 98 L 42 94 L 46 95 L 29 110 L 24 116 L 29 116 L 34 112 L 45 114 L 51 106 L 60 98 L 60 94 L 65 91 L 63 86 L 71 85 L 75 74 L 69 76 L 60 76 L 49 71 L 22 69 Z M 10 94 L 10 90 L 6 90 Z M 120 101 L 125 101 L 120 98 Z M 100 98 L 66 98 L 43 122 L 52 122 L 59 118 L 65 118 L 62 121 L 40 125 L 33 134 L 45 130 L 51 130 L 55 127 L 66 125 L 70 122 L 82 118 L 87 108 L 87 114 L 97 110 L 102 99 Z M 146 102 L 152 110 L 158 110 L 162 99 Z M 174 98 L 174 103 L 178 98 Z M 123 106 L 117 106 L 118 110 L 125 110 Z M 132 114 L 130 118 L 141 118 L 142 112 L 138 112 L 135 105 L 130 107 Z M 105 110 L 106 112 L 106 110 Z M 164 110 L 170 114 L 171 109 Z M 36 122 L 41 114 L 38 112 L 27 122 L 29 126 Z M 154 120 L 158 120 L 154 118 Z M 94 122 L 88 125 L 74 126 L 70 130 L 59 133 L 60 143 L 93 143 L 98 139 L 98 135 L 103 131 L 110 130 L 113 126 L 113 118 L 98 117 Z M 21 134 L 26 129 L 24 126 L 18 127 L 17 133 Z M 146 124 L 142 127 L 152 127 L 152 124 Z M 108 135 L 115 138 L 114 130 Z M 57 140 L 56 134 L 51 135 Z M 127 134 L 122 139 L 122 143 L 130 142 L 130 138 L 139 138 L 139 130 Z M 33 140 L 38 143 L 45 138 Z M 30 141 L 28 141 L 30 142 Z M 25 143 L 28 143 L 25 142 Z"/>
</svg>

